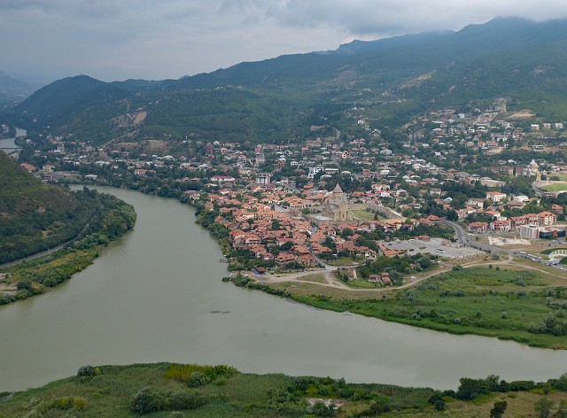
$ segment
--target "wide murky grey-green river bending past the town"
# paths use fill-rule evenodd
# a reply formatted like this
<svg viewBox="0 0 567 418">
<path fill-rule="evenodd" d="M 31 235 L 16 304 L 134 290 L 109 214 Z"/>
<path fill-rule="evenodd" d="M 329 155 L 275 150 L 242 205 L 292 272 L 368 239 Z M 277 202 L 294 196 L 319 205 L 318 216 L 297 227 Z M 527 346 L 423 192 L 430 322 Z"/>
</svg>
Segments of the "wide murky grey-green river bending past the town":
<svg viewBox="0 0 567 418">
<path fill-rule="evenodd" d="M 456 389 L 462 376 L 540 381 L 567 371 L 566 351 L 338 314 L 221 283 L 219 246 L 189 206 L 100 190 L 136 207 L 136 228 L 68 283 L 0 308 L 0 391 L 86 364 L 156 361 L 439 389 Z"/>
</svg>

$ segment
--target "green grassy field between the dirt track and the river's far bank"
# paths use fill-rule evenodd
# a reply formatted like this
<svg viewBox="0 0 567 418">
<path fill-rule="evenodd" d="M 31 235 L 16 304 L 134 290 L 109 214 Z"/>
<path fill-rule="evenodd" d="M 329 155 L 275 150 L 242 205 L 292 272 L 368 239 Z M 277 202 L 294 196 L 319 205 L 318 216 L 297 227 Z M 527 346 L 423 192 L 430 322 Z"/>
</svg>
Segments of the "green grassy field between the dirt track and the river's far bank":
<svg viewBox="0 0 567 418">
<path fill-rule="evenodd" d="M 490 263 L 454 267 L 400 290 L 372 290 L 374 285 L 368 283 L 356 283 L 358 290 L 299 282 L 269 286 L 296 301 L 333 311 L 567 349 L 567 278 L 524 260 Z"/>
</svg>

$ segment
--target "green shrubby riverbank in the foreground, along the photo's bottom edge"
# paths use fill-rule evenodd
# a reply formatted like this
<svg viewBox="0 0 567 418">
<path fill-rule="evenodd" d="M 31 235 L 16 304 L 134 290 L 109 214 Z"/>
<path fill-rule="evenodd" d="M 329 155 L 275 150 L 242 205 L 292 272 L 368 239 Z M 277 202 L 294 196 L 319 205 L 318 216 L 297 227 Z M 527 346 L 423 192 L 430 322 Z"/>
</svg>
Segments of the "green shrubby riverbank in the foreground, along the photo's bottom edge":
<svg viewBox="0 0 567 418">
<path fill-rule="evenodd" d="M 463 377 L 456 391 L 435 391 L 330 377 L 245 374 L 222 365 L 85 366 L 43 388 L 0 393 L 0 417 L 492 417 L 504 411 L 533 416 L 528 414 L 542 410 L 545 416 L 561 417 L 566 416 L 565 391 L 567 375 L 545 383 Z"/>
</svg>

